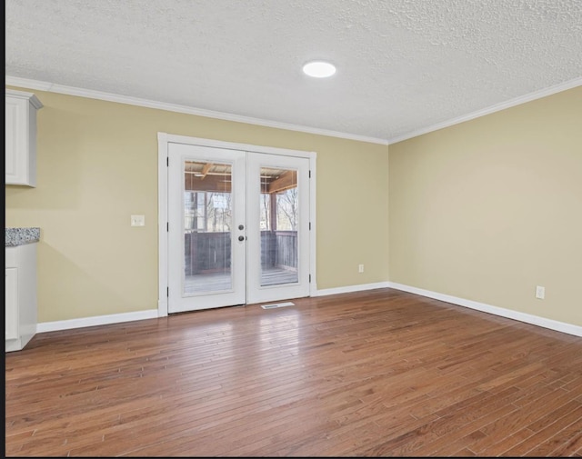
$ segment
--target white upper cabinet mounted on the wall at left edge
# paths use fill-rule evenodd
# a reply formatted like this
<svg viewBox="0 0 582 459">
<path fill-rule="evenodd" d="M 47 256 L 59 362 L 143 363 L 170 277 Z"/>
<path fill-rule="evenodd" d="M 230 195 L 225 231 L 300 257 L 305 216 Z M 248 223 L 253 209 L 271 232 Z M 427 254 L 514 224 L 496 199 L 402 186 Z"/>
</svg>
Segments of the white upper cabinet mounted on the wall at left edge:
<svg viewBox="0 0 582 459">
<path fill-rule="evenodd" d="M 36 186 L 36 111 L 32 93 L 6 89 L 5 185 Z"/>
</svg>

